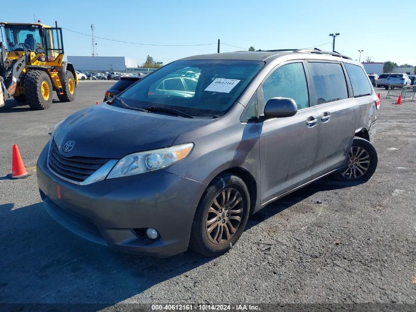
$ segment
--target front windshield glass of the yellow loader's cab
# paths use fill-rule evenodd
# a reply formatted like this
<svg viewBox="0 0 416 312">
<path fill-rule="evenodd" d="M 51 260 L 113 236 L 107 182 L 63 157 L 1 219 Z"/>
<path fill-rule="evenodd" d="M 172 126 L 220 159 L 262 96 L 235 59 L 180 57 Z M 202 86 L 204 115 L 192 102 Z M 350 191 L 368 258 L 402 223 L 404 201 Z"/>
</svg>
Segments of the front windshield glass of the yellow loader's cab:
<svg viewBox="0 0 416 312">
<path fill-rule="evenodd" d="M 31 25 L 8 25 L 4 28 L 7 51 L 35 51 L 42 46 L 39 29 Z"/>
</svg>

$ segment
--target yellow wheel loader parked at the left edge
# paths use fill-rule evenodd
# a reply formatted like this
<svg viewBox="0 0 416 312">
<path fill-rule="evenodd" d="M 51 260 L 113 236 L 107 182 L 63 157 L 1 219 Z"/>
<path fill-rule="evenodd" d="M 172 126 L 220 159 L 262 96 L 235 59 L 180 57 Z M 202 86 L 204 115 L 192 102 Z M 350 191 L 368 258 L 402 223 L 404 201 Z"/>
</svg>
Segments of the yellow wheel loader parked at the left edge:
<svg viewBox="0 0 416 312">
<path fill-rule="evenodd" d="M 74 101 L 78 76 L 64 62 L 62 28 L 0 22 L 0 33 L 0 106 L 13 97 L 47 109 L 54 91 L 61 102 Z"/>
</svg>

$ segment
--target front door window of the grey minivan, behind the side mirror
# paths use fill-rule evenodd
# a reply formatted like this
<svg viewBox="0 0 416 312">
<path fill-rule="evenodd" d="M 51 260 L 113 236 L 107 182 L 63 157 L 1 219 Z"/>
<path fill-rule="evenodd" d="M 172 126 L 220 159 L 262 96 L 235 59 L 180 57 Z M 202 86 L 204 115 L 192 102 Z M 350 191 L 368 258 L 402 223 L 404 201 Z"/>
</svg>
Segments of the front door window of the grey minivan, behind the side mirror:
<svg viewBox="0 0 416 312">
<path fill-rule="evenodd" d="M 263 82 L 264 104 L 271 98 L 290 98 L 297 109 L 309 107 L 308 86 L 302 63 L 279 67 Z"/>
</svg>

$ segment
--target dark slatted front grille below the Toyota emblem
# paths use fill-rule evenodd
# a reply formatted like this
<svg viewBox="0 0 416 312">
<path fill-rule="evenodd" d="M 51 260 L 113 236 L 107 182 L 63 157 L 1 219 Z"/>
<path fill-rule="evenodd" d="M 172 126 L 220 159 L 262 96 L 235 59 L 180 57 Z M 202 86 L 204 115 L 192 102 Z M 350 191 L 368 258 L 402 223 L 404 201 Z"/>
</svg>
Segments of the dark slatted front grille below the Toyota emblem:
<svg viewBox="0 0 416 312">
<path fill-rule="evenodd" d="M 55 140 L 49 150 L 49 168 L 59 175 L 77 182 L 82 182 L 95 173 L 110 159 L 95 157 L 64 157 L 59 153 Z"/>
</svg>

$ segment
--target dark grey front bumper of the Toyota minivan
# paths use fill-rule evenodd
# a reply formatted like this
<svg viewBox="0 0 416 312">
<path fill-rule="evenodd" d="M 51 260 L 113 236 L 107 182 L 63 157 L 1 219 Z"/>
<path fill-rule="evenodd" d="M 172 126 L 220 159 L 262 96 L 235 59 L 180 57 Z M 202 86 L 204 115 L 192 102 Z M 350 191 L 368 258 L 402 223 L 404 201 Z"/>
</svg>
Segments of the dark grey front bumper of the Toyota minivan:
<svg viewBox="0 0 416 312">
<path fill-rule="evenodd" d="M 188 249 L 205 184 L 159 170 L 79 186 L 49 171 L 47 152 L 45 146 L 37 162 L 39 191 L 48 213 L 65 228 L 128 253 L 165 257 Z M 149 227 L 159 232 L 157 240 L 140 235 Z"/>
</svg>

